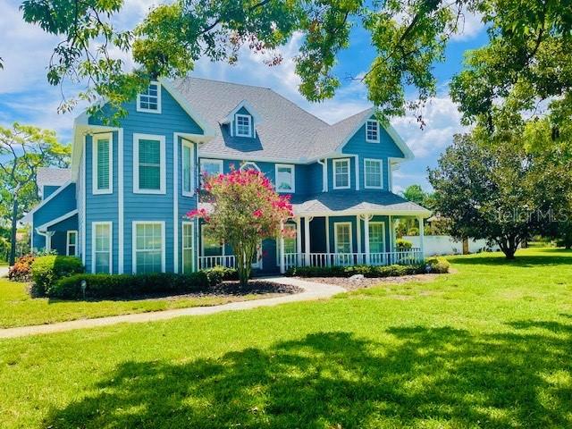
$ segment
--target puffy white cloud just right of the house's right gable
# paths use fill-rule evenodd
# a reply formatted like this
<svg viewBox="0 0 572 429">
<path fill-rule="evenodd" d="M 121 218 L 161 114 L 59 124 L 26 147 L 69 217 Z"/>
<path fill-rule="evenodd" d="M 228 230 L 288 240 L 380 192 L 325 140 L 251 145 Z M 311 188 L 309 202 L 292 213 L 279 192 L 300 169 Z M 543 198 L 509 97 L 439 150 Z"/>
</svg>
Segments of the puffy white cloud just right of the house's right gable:
<svg viewBox="0 0 572 429">
<path fill-rule="evenodd" d="M 417 157 L 435 156 L 452 142 L 453 135 L 466 130 L 460 124 L 461 114 L 450 97 L 431 98 L 421 114 L 425 127 L 421 130 L 414 114 L 395 118 L 391 124 Z"/>
</svg>

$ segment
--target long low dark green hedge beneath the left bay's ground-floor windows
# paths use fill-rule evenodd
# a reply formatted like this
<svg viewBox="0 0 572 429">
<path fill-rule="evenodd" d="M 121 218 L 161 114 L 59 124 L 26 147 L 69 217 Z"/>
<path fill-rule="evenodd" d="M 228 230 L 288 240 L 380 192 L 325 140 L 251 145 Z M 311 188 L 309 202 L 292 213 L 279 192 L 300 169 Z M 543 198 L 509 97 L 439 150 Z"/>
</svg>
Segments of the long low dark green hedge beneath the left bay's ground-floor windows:
<svg viewBox="0 0 572 429">
<path fill-rule="evenodd" d="M 86 282 L 85 298 L 133 298 L 144 295 L 181 294 L 208 290 L 213 283 L 205 272 L 175 274 L 76 274 L 60 279 L 47 290 L 51 298 L 82 299 L 81 282 Z"/>
</svg>

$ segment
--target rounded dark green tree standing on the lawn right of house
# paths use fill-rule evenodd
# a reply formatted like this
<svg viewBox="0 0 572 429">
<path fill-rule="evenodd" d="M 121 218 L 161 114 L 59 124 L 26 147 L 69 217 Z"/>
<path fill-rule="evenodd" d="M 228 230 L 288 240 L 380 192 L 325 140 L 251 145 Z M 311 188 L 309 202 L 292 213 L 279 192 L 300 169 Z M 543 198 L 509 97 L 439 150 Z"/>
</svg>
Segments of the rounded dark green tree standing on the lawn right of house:
<svg viewBox="0 0 572 429">
<path fill-rule="evenodd" d="M 476 127 L 455 136 L 437 168 L 429 170 L 434 208 L 449 218 L 453 236 L 489 240 L 512 259 L 532 234 L 565 225 L 572 195 L 570 156 L 557 145 L 546 150 L 547 123 L 498 116 L 493 134 Z M 531 147 L 531 133 L 543 139 L 543 150 Z"/>
</svg>

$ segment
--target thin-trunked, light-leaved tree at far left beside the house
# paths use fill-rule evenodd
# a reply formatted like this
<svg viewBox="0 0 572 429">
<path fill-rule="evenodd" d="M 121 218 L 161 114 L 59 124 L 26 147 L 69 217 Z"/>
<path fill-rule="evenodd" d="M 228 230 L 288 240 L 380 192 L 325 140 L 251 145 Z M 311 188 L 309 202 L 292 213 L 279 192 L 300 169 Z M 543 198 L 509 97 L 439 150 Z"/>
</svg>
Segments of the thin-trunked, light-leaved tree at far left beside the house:
<svg viewBox="0 0 572 429">
<path fill-rule="evenodd" d="M 39 167 L 65 167 L 70 146 L 60 144 L 53 130 L 42 130 L 17 122 L 0 127 L 0 214 L 11 225 L 10 265 L 16 254 L 18 219 L 38 202 L 36 175 Z"/>
</svg>

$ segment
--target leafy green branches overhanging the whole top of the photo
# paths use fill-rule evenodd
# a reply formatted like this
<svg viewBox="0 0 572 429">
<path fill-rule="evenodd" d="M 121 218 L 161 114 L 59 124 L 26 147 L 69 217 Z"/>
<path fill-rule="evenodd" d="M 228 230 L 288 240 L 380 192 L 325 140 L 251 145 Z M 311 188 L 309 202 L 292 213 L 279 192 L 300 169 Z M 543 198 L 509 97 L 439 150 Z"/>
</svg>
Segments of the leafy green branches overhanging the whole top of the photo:
<svg viewBox="0 0 572 429">
<path fill-rule="evenodd" d="M 185 76 L 199 58 L 236 63 L 246 48 L 268 65 L 280 64 L 279 48 L 294 35 L 300 37 L 294 58 L 299 91 L 311 101 L 330 98 L 341 86 L 338 55 L 351 47 L 356 28 L 369 34 L 373 59 L 365 72 L 348 78 L 365 83 L 380 118 L 401 115 L 436 94 L 433 65 L 444 60 L 451 37 L 463 31 L 467 13 L 480 17 L 489 41 L 467 53 L 464 69 L 451 80 L 451 96 L 466 122 L 491 124 L 497 109 L 524 112 L 544 102 L 545 113 L 558 123 L 572 105 L 570 2 L 164 0 L 130 29 L 114 20 L 123 5 L 123 0 L 21 3 L 24 21 L 61 38 L 47 64 L 48 81 L 82 82 L 79 98 L 105 97 L 118 114 L 125 114 L 122 103 L 149 80 Z M 122 60 L 126 53 L 134 70 Z M 405 88 L 415 88 L 416 97 L 408 100 Z M 65 98 L 61 109 L 73 108 L 78 97 Z M 97 106 L 90 113 L 95 111 Z"/>
</svg>

